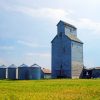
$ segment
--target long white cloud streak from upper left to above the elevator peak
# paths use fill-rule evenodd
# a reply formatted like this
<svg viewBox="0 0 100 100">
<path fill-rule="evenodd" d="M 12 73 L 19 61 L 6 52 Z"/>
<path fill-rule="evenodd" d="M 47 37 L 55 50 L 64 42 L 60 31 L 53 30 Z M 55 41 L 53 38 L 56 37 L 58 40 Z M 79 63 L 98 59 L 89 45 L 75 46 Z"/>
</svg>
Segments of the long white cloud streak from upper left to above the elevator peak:
<svg viewBox="0 0 100 100">
<path fill-rule="evenodd" d="M 34 18 L 49 18 L 54 20 L 60 20 L 66 18 L 72 13 L 72 10 L 56 9 L 56 8 L 32 8 L 27 6 L 9 5 L 7 3 L 1 3 L 1 8 L 7 11 L 13 11 L 23 13 Z"/>
</svg>

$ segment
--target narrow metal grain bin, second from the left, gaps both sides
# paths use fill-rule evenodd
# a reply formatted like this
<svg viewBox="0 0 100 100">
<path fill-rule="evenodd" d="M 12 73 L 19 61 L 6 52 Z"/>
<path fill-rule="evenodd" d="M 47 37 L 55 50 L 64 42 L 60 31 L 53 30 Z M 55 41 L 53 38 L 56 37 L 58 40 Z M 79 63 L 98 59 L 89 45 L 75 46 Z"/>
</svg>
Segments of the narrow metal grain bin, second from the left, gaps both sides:
<svg viewBox="0 0 100 100">
<path fill-rule="evenodd" d="M 16 79 L 16 68 L 14 64 L 8 67 L 8 79 Z"/>
</svg>

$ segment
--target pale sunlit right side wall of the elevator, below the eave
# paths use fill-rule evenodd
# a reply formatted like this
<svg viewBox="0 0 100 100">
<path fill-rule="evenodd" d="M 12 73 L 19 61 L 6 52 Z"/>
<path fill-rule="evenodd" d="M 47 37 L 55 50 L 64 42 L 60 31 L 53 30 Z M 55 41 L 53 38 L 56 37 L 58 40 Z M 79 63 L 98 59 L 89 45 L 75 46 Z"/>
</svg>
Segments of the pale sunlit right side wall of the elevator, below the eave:
<svg viewBox="0 0 100 100">
<path fill-rule="evenodd" d="M 72 41 L 72 78 L 80 78 L 83 71 L 83 44 Z"/>
</svg>

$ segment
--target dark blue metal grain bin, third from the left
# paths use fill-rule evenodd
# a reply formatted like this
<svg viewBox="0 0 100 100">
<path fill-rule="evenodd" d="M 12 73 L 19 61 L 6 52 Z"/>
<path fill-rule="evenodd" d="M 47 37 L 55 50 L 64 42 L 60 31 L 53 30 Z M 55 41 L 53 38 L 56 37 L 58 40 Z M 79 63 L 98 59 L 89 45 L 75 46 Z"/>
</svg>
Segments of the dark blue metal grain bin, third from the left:
<svg viewBox="0 0 100 100">
<path fill-rule="evenodd" d="M 29 79 L 29 73 L 28 73 L 28 66 L 25 64 L 22 64 L 18 67 L 18 79 L 19 80 L 27 80 Z"/>
</svg>

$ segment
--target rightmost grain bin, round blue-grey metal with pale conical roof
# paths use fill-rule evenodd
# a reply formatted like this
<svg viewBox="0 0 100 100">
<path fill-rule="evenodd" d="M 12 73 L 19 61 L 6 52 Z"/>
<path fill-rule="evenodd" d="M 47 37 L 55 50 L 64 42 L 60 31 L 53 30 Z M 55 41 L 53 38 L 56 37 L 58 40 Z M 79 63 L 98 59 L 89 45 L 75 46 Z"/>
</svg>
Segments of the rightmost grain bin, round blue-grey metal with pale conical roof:
<svg viewBox="0 0 100 100">
<path fill-rule="evenodd" d="M 41 67 L 33 64 L 29 67 L 29 79 L 41 79 Z"/>
</svg>

